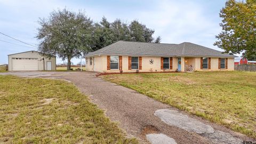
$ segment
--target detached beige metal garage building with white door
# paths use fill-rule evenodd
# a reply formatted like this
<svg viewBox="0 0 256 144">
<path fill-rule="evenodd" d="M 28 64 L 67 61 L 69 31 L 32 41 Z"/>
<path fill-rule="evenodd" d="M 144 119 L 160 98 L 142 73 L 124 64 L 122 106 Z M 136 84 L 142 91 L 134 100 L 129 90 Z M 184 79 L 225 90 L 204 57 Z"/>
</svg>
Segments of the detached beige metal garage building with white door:
<svg viewBox="0 0 256 144">
<path fill-rule="evenodd" d="M 42 56 L 41 52 L 27 51 L 8 55 L 9 71 L 56 70 L 56 57 Z"/>
</svg>

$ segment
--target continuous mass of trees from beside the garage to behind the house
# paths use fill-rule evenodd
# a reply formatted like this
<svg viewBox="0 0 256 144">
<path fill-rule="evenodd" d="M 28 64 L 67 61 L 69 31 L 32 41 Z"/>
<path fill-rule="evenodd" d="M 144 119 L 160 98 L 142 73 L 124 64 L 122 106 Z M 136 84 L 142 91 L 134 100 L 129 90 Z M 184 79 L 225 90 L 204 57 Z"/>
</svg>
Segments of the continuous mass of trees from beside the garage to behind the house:
<svg viewBox="0 0 256 144">
<path fill-rule="evenodd" d="M 137 20 L 130 23 L 120 19 L 109 22 L 103 17 L 100 22 L 93 22 L 85 12 L 73 12 L 66 8 L 53 11 L 48 18 L 39 18 L 38 23 L 38 51 L 67 60 L 68 70 L 71 58 L 79 58 L 86 52 L 99 50 L 117 41 L 161 42 L 160 36 L 153 37 L 153 29 Z"/>
</svg>

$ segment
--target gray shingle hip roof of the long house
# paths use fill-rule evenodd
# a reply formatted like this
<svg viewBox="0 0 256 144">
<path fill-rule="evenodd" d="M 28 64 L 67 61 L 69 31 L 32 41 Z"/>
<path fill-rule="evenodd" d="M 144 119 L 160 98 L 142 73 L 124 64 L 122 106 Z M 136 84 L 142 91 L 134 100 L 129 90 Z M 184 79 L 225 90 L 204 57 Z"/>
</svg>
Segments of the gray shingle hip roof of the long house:
<svg viewBox="0 0 256 144">
<path fill-rule="evenodd" d="M 234 55 L 228 53 L 187 42 L 181 44 L 156 44 L 118 41 L 100 50 L 90 52 L 86 57 L 96 54 L 234 57 Z"/>
</svg>

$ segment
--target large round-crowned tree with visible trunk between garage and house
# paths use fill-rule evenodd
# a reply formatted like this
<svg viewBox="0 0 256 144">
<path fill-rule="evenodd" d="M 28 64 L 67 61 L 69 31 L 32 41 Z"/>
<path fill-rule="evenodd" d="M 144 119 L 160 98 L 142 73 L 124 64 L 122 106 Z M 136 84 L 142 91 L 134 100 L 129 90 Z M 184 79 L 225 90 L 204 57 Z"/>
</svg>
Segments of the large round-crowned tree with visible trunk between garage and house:
<svg viewBox="0 0 256 144">
<path fill-rule="evenodd" d="M 49 18 L 38 22 L 41 26 L 36 36 L 40 41 L 38 50 L 67 60 L 68 70 L 71 58 L 79 58 L 85 51 L 91 51 L 93 21 L 84 12 L 53 11 Z"/>
</svg>

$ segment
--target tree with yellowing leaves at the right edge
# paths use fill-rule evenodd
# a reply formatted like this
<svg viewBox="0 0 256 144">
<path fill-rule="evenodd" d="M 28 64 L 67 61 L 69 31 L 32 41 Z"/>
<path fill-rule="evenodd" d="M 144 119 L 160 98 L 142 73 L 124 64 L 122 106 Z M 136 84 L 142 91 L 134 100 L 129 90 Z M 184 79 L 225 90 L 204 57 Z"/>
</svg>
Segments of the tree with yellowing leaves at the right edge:
<svg viewBox="0 0 256 144">
<path fill-rule="evenodd" d="M 247 59 L 256 60 L 256 1 L 228 0 L 220 17 L 222 31 L 214 45 L 225 52 L 243 53 Z"/>
</svg>

